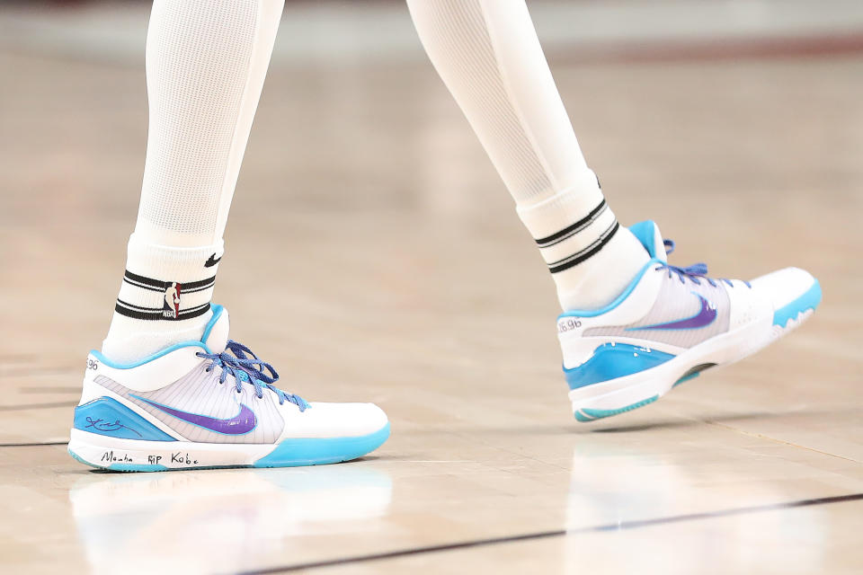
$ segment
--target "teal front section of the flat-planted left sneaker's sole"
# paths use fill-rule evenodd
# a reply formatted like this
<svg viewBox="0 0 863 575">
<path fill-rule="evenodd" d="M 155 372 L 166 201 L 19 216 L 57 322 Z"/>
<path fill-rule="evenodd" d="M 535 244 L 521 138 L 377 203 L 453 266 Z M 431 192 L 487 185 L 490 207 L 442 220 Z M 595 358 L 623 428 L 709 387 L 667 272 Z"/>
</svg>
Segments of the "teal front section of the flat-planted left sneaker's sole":
<svg viewBox="0 0 863 575">
<path fill-rule="evenodd" d="M 270 455 L 258 459 L 253 467 L 294 467 L 298 465 L 334 464 L 364 456 L 389 437 L 389 423 L 374 433 L 356 438 L 285 439 Z"/>
</svg>

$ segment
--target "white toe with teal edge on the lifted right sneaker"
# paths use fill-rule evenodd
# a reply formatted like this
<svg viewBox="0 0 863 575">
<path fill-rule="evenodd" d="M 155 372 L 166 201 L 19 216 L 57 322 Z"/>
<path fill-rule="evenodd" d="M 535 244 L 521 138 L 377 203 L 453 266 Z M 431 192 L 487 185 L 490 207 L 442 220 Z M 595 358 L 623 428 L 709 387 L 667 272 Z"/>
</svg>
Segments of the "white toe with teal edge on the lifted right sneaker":
<svg viewBox="0 0 863 575">
<path fill-rule="evenodd" d="M 752 279 L 755 289 L 773 305 L 773 324 L 785 325 L 798 314 L 814 310 L 821 302 L 821 285 L 812 274 L 799 268 L 776 270 Z"/>
</svg>

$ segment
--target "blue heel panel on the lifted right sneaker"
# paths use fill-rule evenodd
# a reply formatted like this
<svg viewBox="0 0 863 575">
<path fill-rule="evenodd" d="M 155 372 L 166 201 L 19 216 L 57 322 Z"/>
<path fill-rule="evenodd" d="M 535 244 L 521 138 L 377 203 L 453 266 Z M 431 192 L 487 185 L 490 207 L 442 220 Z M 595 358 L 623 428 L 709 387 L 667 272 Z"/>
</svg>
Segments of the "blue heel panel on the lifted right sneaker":
<svg viewBox="0 0 863 575">
<path fill-rule="evenodd" d="M 603 343 L 578 367 L 564 367 L 570 389 L 598 384 L 609 379 L 631 376 L 674 358 L 670 353 L 628 343 Z"/>
</svg>

